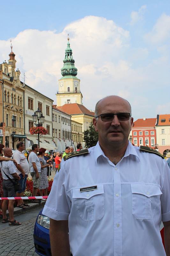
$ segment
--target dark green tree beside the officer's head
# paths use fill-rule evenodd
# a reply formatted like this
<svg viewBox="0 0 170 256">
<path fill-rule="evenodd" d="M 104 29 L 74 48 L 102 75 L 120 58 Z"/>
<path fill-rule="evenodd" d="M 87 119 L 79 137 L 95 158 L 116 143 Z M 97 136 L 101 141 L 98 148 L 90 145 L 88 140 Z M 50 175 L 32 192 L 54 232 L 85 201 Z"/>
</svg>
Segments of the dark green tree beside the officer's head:
<svg viewBox="0 0 170 256">
<path fill-rule="evenodd" d="M 98 133 L 94 130 L 93 123 L 91 122 L 89 128 L 83 132 L 83 141 L 86 148 L 95 146 L 98 142 Z"/>
</svg>

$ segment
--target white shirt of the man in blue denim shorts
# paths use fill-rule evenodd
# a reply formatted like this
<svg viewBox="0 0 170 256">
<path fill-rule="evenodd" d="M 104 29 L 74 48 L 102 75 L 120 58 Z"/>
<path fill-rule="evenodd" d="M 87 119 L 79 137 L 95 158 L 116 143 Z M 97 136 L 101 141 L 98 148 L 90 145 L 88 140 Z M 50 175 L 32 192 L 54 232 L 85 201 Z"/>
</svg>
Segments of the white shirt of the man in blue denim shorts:
<svg viewBox="0 0 170 256">
<path fill-rule="evenodd" d="M 26 157 L 24 156 L 24 153 L 20 152 L 18 149 L 15 150 L 15 152 L 13 154 L 13 159 L 16 160 L 17 164 L 21 165 L 25 174 L 28 175 L 30 167 L 29 167 L 29 164 L 28 164 L 28 161 L 27 161 Z M 17 167 L 16 167 L 16 173 L 18 175 L 21 174 L 21 172 L 17 169 Z"/>
</svg>

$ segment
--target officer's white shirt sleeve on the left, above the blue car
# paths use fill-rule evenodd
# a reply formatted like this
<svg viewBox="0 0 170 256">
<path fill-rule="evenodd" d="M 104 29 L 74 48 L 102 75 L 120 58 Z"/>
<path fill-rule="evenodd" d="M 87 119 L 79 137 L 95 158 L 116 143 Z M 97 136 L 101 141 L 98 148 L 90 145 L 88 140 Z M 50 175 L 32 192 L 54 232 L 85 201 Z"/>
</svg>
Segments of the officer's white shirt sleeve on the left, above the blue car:
<svg viewBox="0 0 170 256">
<path fill-rule="evenodd" d="M 68 220 L 69 218 L 71 201 L 66 194 L 66 183 L 67 176 L 62 161 L 61 169 L 55 175 L 51 192 L 42 211 L 44 215 L 53 220 Z"/>
</svg>

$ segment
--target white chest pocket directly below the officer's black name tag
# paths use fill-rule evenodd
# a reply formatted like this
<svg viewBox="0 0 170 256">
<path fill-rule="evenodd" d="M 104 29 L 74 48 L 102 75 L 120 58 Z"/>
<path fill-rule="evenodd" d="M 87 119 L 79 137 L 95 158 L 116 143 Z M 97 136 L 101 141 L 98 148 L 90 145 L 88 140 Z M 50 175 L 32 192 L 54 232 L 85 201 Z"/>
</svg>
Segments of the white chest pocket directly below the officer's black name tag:
<svg viewBox="0 0 170 256">
<path fill-rule="evenodd" d="M 80 192 L 73 189 L 72 204 L 75 204 L 83 220 L 100 220 L 104 215 L 104 188 L 98 185 L 96 190 Z"/>
</svg>

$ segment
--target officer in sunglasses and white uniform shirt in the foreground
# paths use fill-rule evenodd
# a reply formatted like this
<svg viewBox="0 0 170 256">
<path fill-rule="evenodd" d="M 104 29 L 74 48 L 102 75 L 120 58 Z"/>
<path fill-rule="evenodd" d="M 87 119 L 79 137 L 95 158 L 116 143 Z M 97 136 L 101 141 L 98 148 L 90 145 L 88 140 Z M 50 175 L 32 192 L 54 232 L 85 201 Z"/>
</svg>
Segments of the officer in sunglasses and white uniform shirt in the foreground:
<svg viewBox="0 0 170 256">
<path fill-rule="evenodd" d="M 133 117 L 127 100 L 100 100 L 93 124 L 97 145 L 63 158 L 42 212 L 50 218 L 52 255 L 170 256 L 166 161 L 128 141 Z"/>
</svg>

